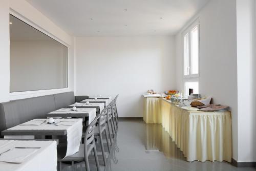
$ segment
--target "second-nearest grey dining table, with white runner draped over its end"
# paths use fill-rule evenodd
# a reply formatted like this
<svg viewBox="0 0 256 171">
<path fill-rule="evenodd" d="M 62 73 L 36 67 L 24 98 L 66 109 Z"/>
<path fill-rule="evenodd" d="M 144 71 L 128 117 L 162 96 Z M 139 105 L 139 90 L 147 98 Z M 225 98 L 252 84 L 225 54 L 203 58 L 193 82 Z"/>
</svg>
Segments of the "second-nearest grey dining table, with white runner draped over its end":
<svg viewBox="0 0 256 171">
<path fill-rule="evenodd" d="M 82 137 L 82 119 L 33 119 L 28 122 L 16 125 L 5 131 L 2 135 L 6 139 L 34 139 L 35 136 L 64 136 L 67 138 L 66 156 L 78 152 Z"/>
</svg>

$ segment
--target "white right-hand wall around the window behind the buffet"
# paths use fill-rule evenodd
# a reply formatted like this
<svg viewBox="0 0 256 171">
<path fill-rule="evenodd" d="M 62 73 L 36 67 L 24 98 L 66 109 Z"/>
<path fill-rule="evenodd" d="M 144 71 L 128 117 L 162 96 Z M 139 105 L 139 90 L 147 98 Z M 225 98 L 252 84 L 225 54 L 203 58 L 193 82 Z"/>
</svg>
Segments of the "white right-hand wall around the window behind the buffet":
<svg viewBox="0 0 256 171">
<path fill-rule="evenodd" d="M 236 1 L 210 1 L 184 29 L 196 18 L 200 20 L 200 94 L 230 106 L 233 158 L 238 160 Z M 176 80 L 178 90 L 184 91 L 181 32 L 176 35 Z"/>
</svg>

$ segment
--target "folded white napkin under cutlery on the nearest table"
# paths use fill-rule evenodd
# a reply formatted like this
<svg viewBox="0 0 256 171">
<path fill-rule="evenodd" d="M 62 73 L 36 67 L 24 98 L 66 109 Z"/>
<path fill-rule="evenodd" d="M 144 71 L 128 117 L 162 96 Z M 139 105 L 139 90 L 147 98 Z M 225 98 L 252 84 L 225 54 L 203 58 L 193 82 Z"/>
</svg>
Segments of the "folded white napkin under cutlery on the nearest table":
<svg viewBox="0 0 256 171">
<path fill-rule="evenodd" d="M 38 151 L 39 148 L 15 148 L 3 153 L 0 162 L 22 163 L 27 157 Z"/>
</svg>

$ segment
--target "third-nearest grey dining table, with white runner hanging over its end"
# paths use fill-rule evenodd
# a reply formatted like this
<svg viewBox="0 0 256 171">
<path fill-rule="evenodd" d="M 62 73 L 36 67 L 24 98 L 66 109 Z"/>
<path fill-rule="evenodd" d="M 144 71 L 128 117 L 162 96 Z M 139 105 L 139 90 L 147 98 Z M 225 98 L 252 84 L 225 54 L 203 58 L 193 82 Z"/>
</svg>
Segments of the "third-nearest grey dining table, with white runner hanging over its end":
<svg viewBox="0 0 256 171">
<path fill-rule="evenodd" d="M 72 108 L 73 107 L 74 106 L 72 106 Z M 61 108 L 59 110 L 46 114 L 46 116 L 61 118 L 81 117 L 83 119 L 88 117 L 88 124 L 90 124 L 96 117 L 96 108 L 77 108 L 76 110 L 73 110 L 72 108 Z"/>
</svg>

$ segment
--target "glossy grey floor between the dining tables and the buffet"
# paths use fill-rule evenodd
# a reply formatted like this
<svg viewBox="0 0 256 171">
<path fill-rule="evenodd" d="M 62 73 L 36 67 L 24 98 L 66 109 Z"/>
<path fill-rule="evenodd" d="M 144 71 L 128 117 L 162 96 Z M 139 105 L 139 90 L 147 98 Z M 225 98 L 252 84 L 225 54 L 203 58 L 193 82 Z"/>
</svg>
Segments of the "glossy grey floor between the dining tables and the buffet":
<svg viewBox="0 0 256 171">
<path fill-rule="evenodd" d="M 99 144 L 97 149 L 100 152 Z M 107 148 L 105 152 L 108 152 Z M 144 124 L 142 121 L 120 121 L 108 166 L 103 166 L 101 153 L 98 157 L 102 171 L 256 170 L 237 168 L 227 162 L 187 162 L 161 124 Z M 90 168 L 97 170 L 93 155 L 90 157 Z M 71 165 L 62 164 L 62 170 L 71 170 Z M 84 162 L 76 163 L 74 170 L 86 170 Z"/>
</svg>

